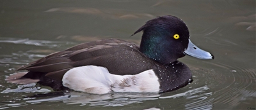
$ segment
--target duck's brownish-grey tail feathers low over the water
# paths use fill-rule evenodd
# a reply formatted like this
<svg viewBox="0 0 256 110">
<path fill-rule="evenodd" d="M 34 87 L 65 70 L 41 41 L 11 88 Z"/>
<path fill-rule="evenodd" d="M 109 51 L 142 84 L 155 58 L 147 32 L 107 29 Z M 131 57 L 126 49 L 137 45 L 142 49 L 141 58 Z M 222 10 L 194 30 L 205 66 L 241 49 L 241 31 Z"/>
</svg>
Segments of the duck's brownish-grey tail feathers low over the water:
<svg viewBox="0 0 256 110">
<path fill-rule="evenodd" d="M 39 81 L 39 79 L 23 78 L 22 76 L 24 76 L 27 73 L 28 72 L 17 72 L 17 73 L 11 74 L 5 80 L 8 83 L 17 83 L 17 84 L 23 84 L 23 85 L 26 85 L 29 83 L 36 83 Z"/>
</svg>

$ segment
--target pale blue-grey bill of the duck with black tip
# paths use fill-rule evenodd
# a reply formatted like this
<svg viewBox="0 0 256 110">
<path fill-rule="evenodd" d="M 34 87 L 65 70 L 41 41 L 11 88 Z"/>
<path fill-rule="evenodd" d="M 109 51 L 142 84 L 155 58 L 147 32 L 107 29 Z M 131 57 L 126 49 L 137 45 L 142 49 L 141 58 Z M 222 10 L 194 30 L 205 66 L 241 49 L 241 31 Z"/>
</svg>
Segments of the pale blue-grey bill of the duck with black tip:
<svg viewBox="0 0 256 110">
<path fill-rule="evenodd" d="M 211 53 L 198 48 L 196 45 L 194 45 L 190 41 L 190 39 L 189 39 L 189 43 L 188 43 L 188 48 L 184 51 L 184 53 L 186 55 L 200 58 L 200 59 L 214 59 L 214 56 Z"/>
</svg>

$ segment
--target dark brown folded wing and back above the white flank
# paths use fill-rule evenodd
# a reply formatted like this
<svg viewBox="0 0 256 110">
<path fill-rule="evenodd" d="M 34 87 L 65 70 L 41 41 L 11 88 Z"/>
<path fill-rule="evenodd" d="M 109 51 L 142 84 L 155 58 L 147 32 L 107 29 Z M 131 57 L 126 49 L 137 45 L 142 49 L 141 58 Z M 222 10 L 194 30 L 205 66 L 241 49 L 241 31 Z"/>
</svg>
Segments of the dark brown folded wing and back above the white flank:
<svg viewBox="0 0 256 110">
<path fill-rule="evenodd" d="M 111 74 L 124 75 L 152 69 L 154 61 L 143 55 L 134 43 L 104 39 L 52 53 L 18 70 L 29 71 L 24 78 L 40 79 L 46 76 L 61 81 L 65 72 L 84 65 L 98 65 L 106 67 Z"/>
</svg>

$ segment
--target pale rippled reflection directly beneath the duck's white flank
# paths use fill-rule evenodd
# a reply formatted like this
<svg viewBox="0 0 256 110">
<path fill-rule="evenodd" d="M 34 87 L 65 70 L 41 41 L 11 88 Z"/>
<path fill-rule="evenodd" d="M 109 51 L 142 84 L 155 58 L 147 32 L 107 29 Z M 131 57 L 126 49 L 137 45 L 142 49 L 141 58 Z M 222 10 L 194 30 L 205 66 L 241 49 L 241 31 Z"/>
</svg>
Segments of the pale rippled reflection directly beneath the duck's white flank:
<svg viewBox="0 0 256 110">
<path fill-rule="evenodd" d="M 90 106 L 125 106 L 127 104 L 141 103 L 145 100 L 156 100 L 156 93 L 108 93 L 104 95 L 71 93 L 67 104 L 89 104 Z"/>
</svg>

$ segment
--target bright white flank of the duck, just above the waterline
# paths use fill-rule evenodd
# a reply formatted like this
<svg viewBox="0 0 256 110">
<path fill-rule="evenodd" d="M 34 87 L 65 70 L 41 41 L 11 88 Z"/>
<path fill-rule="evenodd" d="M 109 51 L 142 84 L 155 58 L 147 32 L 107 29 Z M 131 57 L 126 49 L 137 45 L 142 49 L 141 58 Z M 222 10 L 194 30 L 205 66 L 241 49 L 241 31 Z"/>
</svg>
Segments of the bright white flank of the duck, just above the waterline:
<svg viewBox="0 0 256 110">
<path fill-rule="evenodd" d="M 86 65 L 70 69 L 63 85 L 72 90 L 103 94 L 108 92 L 159 92 L 159 81 L 152 69 L 136 75 L 115 75 L 105 67 Z"/>
</svg>

